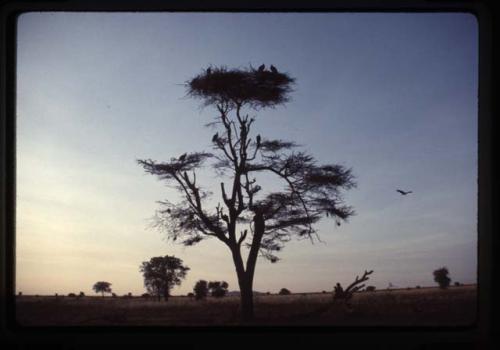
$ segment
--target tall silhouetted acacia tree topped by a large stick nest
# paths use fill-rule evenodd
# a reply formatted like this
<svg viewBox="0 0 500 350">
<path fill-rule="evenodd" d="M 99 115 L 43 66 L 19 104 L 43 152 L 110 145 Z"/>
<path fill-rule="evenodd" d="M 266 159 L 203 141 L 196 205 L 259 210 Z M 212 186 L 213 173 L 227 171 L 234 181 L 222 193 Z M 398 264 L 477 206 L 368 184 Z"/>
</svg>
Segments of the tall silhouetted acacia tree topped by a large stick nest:
<svg viewBox="0 0 500 350">
<path fill-rule="evenodd" d="M 247 112 L 273 108 L 289 101 L 294 79 L 276 69 L 210 67 L 186 83 L 188 95 L 214 107 L 209 126 L 215 152 L 184 153 L 167 162 L 138 160 L 145 171 L 173 184 L 183 200 L 160 202 L 155 225 L 186 246 L 216 238 L 232 255 L 241 292 L 243 321 L 253 318 L 253 279 L 258 256 L 278 261 L 293 236 L 318 238 L 314 224 L 323 216 L 337 225 L 354 214 L 343 204 L 341 190 L 355 186 L 351 170 L 319 165 L 298 145 L 282 139 L 252 135 L 255 117 Z M 209 208 L 211 193 L 197 183 L 196 172 L 211 161 L 220 183 L 220 202 Z M 259 174 L 272 174 L 284 188 L 266 191 Z M 319 239 L 319 238 L 318 238 Z M 248 248 L 248 253 L 242 252 Z"/>
</svg>

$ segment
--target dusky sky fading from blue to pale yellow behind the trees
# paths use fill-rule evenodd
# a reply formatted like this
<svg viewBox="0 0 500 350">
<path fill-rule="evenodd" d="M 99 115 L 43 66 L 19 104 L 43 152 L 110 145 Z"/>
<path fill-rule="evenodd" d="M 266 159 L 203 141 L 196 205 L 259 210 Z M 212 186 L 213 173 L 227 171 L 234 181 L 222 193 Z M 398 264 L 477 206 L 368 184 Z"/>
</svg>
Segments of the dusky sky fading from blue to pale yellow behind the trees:
<svg viewBox="0 0 500 350">
<path fill-rule="evenodd" d="M 358 186 L 344 193 L 356 215 L 259 259 L 254 290 L 330 291 L 372 269 L 379 289 L 432 286 L 442 266 L 476 282 L 472 15 L 31 12 L 17 29 L 16 291 L 90 295 L 108 281 L 141 294 L 140 264 L 164 255 L 191 269 L 174 295 L 199 279 L 238 290 L 220 241 L 183 247 L 150 227 L 157 201 L 179 197 L 136 160 L 208 150 L 215 110 L 183 84 L 209 65 L 262 63 L 296 85 L 286 105 L 247 110 L 255 134 L 352 168 Z"/>
</svg>

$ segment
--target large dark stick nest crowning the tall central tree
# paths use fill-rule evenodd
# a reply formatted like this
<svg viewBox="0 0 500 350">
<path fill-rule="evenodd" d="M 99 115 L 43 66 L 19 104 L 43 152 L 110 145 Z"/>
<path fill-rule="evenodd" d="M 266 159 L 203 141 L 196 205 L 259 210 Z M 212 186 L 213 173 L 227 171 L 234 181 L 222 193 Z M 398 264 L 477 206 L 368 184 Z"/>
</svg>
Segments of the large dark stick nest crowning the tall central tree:
<svg viewBox="0 0 500 350">
<path fill-rule="evenodd" d="M 295 79 L 282 72 L 210 67 L 186 83 L 190 96 L 205 105 L 229 103 L 252 107 L 274 107 L 289 100 Z"/>
</svg>

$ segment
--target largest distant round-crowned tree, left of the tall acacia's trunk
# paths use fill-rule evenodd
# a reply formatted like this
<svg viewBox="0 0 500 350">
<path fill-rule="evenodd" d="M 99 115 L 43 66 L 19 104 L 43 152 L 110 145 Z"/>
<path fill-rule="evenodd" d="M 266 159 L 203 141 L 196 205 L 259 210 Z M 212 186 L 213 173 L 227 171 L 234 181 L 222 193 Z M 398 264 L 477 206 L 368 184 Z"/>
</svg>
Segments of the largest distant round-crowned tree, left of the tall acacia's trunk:
<svg viewBox="0 0 500 350">
<path fill-rule="evenodd" d="M 140 266 L 144 277 L 144 286 L 150 294 L 158 296 L 158 301 L 163 296 L 165 301 L 170 296 L 170 290 L 180 285 L 186 277 L 189 267 L 184 266 L 181 259 L 175 256 L 158 256 L 144 261 Z"/>
</svg>

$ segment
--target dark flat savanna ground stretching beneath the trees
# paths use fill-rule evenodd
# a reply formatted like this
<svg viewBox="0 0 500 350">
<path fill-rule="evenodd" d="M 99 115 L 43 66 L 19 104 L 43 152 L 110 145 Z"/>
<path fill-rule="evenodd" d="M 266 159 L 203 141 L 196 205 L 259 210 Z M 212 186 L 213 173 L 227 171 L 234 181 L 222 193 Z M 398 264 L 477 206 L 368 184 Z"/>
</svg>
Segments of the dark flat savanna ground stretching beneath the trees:
<svg viewBox="0 0 500 350">
<path fill-rule="evenodd" d="M 354 294 L 351 307 L 331 293 L 254 297 L 255 324 L 269 326 L 457 326 L 476 317 L 476 286 L 380 290 Z M 239 324 L 239 297 L 171 297 L 168 302 L 55 296 L 16 298 L 22 326 L 233 326 Z"/>
</svg>

